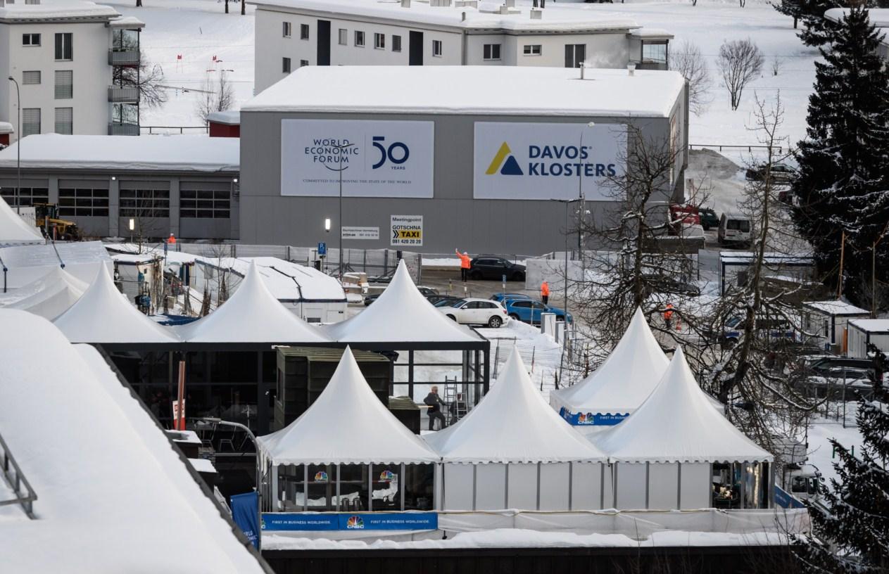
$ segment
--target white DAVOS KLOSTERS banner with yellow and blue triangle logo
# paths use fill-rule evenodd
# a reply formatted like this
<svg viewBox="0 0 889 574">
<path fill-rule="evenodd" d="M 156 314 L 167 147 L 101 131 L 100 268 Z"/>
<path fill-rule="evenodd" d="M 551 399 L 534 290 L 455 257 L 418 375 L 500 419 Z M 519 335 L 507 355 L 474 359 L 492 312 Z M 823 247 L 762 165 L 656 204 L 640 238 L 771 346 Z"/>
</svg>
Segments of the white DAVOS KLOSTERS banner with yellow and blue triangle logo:
<svg viewBox="0 0 889 574">
<path fill-rule="evenodd" d="M 608 200 L 626 141 L 620 124 L 476 122 L 473 197 Z"/>
</svg>

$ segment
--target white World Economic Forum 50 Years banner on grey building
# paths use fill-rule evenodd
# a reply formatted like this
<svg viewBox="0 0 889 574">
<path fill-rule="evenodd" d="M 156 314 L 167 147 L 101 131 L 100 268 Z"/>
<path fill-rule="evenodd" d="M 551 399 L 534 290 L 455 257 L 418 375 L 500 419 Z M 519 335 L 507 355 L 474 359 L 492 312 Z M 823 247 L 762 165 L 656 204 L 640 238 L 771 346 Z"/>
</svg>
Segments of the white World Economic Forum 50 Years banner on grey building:
<svg viewBox="0 0 889 574">
<path fill-rule="evenodd" d="M 281 120 L 281 195 L 432 197 L 432 122 Z M 341 173 L 340 173 L 341 171 Z"/>
</svg>

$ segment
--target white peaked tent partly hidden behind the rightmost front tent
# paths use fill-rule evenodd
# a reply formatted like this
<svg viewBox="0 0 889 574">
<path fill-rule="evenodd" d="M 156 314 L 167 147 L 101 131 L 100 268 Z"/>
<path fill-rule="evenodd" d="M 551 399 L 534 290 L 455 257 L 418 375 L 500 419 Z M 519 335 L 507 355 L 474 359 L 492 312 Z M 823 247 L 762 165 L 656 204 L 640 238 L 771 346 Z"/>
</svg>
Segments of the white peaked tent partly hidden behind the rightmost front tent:
<svg viewBox="0 0 889 574">
<path fill-rule="evenodd" d="M 616 425 L 636 411 L 669 360 L 637 308 L 611 355 L 586 379 L 549 394 L 549 403 L 573 425 Z"/>
</svg>

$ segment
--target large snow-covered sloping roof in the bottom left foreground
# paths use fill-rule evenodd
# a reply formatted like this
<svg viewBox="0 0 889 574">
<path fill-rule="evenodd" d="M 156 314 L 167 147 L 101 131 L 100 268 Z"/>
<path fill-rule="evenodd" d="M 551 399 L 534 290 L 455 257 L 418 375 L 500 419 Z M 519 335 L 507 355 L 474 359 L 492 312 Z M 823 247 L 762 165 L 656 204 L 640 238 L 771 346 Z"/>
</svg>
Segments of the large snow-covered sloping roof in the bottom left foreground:
<svg viewBox="0 0 889 574">
<path fill-rule="evenodd" d="M 0 324 L 0 432 L 38 497 L 36 520 L 0 506 L 0 570 L 263 571 L 96 349 L 23 311 Z"/>
</svg>

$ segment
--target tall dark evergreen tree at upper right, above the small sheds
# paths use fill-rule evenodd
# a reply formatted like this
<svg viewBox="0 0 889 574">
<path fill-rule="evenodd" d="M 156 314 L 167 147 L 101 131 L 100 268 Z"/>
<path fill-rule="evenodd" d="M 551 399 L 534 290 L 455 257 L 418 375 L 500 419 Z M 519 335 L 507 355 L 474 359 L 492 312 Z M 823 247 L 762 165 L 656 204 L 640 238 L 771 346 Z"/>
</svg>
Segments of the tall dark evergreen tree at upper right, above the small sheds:
<svg viewBox="0 0 889 574">
<path fill-rule="evenodd" d="M 830 285 L 837 284 L 845 232 L 844 275 L 856 279 L 845 282 L 845 294 L 867 303 L 860 278 L 870 275 L 871 248 L 889 218 L 889 72 L 867 10 L 853 8 L 829 36 L 819 49 L 824 62 L 815 62 L 807 138 L 797 151 L 793 215 Z M 887 245 L 877 253 L 880 279 L 889 273 Z"/>
</svg>

